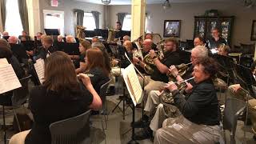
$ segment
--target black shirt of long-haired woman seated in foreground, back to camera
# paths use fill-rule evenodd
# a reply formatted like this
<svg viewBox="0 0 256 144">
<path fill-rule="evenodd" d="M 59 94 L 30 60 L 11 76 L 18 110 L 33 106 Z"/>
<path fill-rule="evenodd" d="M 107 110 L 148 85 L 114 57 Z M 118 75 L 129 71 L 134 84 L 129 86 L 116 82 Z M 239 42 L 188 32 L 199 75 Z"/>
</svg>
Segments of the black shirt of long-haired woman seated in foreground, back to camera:
<svg viewBox="0 0 256 144">
<path fill-rule="evenodd" d="M 63 94 L 66 96 L 64 97 Z M 88 90 L 62 91 L 62 94 L 36 86 L 30 91 L 29 108 L 34 116 L 34 125 L 26 136 L 26 144 L 51 142 L 49 126 L 66 118 L 72 118 L 89 110 L 93 96 Z"/>
</svg>

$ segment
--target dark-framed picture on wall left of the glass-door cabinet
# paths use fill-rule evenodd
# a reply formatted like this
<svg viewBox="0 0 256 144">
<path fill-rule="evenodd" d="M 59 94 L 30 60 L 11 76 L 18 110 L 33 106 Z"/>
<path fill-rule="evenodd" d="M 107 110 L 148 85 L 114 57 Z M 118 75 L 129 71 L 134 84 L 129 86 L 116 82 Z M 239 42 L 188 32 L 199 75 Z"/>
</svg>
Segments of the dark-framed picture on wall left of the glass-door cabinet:
<svg viewBox="0 0 256 144">
<path fill-rule="evenodd" d="M 163 37 L 180 37 L 181 20 L 165 20 L 163 26 Z"/>
</svg>

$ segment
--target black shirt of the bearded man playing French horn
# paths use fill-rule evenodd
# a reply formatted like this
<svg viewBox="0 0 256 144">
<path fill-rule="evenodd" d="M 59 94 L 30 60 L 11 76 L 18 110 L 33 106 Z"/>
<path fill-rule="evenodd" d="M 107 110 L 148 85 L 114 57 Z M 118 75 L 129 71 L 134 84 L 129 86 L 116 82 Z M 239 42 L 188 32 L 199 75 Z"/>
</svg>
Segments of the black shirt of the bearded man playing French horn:
<svg viewBox="0 0 256 144">
<path fill-rule="evenodd" d="M 162 58 L 162 60 L 160 61 L 162 62 L 163 65 L 166 65 L 168 68 L 171 65 L 179 65 L 182 63 L 179 58 L 179 53 L 177 51 L 167 51 L 164 54 L 164 58 Z M 154 73 L 151 75 L 151 79 L 153 79 L 154 81 L 161 81 L 166 83 L 169 81 L 167 75 L 162 74 L 156 66 L 154 66 Z"/>
</svg>

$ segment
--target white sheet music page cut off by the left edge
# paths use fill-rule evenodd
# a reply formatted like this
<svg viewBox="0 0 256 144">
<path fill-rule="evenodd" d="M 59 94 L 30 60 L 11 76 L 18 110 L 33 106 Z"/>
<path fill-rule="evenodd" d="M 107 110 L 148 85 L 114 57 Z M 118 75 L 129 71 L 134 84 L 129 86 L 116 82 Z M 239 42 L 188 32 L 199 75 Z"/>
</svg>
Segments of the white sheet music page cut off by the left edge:
<svg viewBox="0 0 256 144">
<path fill-rule="evenodd" d="M 22 87 L 10 64 L 0 66 L 0 94 Z"/>
</svg>

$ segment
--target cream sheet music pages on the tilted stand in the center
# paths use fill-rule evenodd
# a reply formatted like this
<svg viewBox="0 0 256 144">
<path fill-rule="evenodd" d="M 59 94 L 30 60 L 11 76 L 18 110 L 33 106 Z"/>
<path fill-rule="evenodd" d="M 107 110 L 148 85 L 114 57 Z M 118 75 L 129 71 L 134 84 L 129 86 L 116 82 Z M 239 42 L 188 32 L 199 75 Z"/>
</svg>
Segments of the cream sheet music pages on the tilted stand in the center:
<svg viewBox="0 0 256 144">
<path fill-rule="evenodd" d="M 127 90 L 129 91 L 130 98 L 134 102 L 134 106 L 142 102 L 142 86 L 139 84 L 138 76 L 134 70 L 134 66 L 130 64 L 126 69 L 122 70 L 122 76 L 126 82 Z"/>
</svg>

